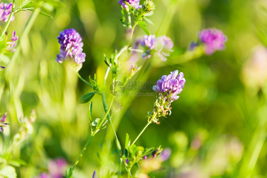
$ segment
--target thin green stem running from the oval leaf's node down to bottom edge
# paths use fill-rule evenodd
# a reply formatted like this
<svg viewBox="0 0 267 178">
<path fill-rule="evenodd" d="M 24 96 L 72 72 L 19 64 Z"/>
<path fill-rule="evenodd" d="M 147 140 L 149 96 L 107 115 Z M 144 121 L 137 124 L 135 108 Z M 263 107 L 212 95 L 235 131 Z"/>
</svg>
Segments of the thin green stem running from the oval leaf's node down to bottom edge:
<svg viewBox="0 0 267 178">
<path fill-rule="evenodd" d="M 100 95 L 101 95 L 101 98 L 102 98 L 102 103 L 103 103 L 104 110 L 107 113 L 108 109 L 107 109 L 107 106 L 106 106 L 105 94 L 101 93 Z M 117 146 L 117 151 L 118 151 L 118 178 L 120 178 L 120 174 L 121 174 L 121 160 L 120 160 L 120 157 L 121 157 L 121 154 L 122 154 L 121 146 L 120 146 L 119 139 L 118 139 L 118 137 L 116 135 L 114 126 L 113 126 L 113 124 L 111 122 L 109 114 L 107 114 L 107 121 L 108 121 L 109 125 L 111 126 L 111 129 L 113 130 L 113 135 L 114 135 L 115 143 L 116 143 L 116 146 Z"/>
</svg>

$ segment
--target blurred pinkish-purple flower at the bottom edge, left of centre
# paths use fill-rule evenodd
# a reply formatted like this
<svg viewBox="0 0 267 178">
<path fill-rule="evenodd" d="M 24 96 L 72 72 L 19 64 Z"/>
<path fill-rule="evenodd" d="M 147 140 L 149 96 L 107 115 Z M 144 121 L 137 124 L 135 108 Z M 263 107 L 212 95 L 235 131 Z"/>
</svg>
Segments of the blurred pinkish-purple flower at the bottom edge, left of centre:
<svg viewBox="0 0 267 178">
<path fill-rule="evenodd" d="M 63 177 L 67 162 L 64 158 L 56 158 L 48 163 L 48 171 L 52 178 Z"/>
</svg>

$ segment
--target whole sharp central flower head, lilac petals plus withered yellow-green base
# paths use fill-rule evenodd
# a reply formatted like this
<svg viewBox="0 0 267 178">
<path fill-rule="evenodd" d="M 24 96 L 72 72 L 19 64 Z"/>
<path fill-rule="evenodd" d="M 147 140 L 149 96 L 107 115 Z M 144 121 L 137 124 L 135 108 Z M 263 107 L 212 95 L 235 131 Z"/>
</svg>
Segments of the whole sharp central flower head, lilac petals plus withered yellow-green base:
<svg viewBox="0 0 267 178">
<path fill-rule="evenodd" d="M 160 80 L 157 81 L 157 85 L 153 86 L 153 90 L 159 92 L 159 97 L 154 103 L 153 111 L 148 112 L 148 122 L 154 121 L 159 124 L 158 117 L 171 114 L 170 104 L 179 98 L 177 94 L 181 93 L 185 79 L 183 78 L 183 72 L 178 75 L 178 70 L 170 72 L 170 75 L 163 75 Z"/>
</svg>

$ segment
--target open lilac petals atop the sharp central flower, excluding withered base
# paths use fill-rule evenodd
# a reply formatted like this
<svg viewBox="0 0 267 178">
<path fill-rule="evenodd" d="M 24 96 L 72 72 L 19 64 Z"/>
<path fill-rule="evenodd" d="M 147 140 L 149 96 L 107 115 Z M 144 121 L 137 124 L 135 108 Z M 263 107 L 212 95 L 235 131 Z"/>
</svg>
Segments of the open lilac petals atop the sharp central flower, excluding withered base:
<svg viewBox="0 0 267 178">
<path fill-rule="evenodd" d="M 170 75 L 163 75 L 160 80 L 157 81 L 157 85 L 153 86 L 153 90 L 159 93 L 166 93 L 170 95 L 171 100 L 177 100 L 181 93 L 185 79 L 183 78 L 183 72 L 178 75 L 178 70 L 170 72 Z"/>
</svg>

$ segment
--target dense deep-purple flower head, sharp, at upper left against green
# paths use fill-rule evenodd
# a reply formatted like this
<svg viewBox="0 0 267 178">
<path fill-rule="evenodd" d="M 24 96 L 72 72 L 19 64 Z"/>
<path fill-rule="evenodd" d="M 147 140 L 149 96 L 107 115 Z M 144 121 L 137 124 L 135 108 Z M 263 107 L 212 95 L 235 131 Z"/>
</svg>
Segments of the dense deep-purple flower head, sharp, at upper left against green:
<svg viewBox="0 0 267 178">
<path fill-rule="evenodd" d="M 67 60 L 73 60 L 79 67 L 85 61 L 85 53 L 83 52 L 84 43 L 82 38 L 75 29 L 66 29 L 60 31 L 57 37 L 60 43 L 60 54 L 57 54 L 56 62 L 62 63 Z"/>
</svg>

